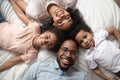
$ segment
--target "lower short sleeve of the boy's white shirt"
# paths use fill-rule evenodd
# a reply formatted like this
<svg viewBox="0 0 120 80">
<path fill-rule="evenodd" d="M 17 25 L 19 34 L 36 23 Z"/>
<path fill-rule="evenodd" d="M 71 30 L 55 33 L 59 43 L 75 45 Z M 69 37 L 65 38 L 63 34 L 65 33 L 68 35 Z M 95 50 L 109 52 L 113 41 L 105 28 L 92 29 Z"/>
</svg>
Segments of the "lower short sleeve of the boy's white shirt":
<svg viewBox="0 0 120 80">
<path fill-rule="evenodd" d="M 90 69 L 94 69 L 97 67 L 97 63 L 93 59 L 93 54 L 90 54 L 89 56 L 87 56 L 87 64 Z"/>
</svg>

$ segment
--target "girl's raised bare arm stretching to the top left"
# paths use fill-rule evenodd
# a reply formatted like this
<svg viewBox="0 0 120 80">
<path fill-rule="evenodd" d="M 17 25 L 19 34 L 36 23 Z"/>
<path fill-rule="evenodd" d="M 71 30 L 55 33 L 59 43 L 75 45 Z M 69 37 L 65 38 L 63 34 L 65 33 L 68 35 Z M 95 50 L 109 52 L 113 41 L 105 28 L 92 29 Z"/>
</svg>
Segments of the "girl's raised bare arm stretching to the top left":
<svg viewBox="0 0 120 80">
<path fill-rule="evenodd" d="M 15 3 L 16 0 L 9 0 L 17 16 L 23 21 L 25 25 L 28 25 L 30 20 L 25 15 L 24 11 Z M 21 4 L 22 5 L 22 4 Z M 24 6 L 24 5 L 22 5 Z"/>
</svg>

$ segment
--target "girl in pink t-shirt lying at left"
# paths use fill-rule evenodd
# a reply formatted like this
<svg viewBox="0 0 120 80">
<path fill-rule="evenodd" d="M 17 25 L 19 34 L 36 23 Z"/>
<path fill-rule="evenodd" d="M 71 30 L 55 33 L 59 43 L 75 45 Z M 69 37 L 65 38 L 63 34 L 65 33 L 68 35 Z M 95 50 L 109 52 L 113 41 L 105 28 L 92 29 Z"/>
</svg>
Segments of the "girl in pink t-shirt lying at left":
<svg viewBox="0 0 120 80">
<path fill-rule="evenodd" d="M 0 48 L 17 53 L 0 65 L 0 72 L 24 61 L 33 61 L 40 48 L 56 50 L 64 40 L 62 31 L 52 28 L 41 33 L 41 25 L 29 22 L 28 26 L 19 26 L 14 22 L 0 23 Z"/>
</svg>

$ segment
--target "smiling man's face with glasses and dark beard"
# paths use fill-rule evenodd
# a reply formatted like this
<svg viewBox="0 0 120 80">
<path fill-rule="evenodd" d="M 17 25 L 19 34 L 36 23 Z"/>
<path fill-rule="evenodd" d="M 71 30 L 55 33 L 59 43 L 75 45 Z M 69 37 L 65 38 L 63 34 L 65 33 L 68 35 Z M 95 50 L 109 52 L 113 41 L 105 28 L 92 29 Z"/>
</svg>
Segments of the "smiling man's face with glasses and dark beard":
<svg viewBox="0 0 120 80">
<path fill-rule="evenodd" d="M 57 61 L 62 70 L 71 67 L 76 58 L 77 44 L 73 40 L 66 40 L 61 45 L 57 53 Z"/>
</svg>

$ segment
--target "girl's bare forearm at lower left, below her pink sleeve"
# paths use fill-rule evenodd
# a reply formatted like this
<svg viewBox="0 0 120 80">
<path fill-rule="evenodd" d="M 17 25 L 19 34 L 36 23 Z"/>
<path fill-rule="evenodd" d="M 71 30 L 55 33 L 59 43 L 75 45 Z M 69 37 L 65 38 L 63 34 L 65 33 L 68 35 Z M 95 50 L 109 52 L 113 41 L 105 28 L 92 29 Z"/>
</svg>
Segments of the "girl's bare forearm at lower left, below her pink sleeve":
<svg viewBox="0 0 120 80">
<path fill-rule="evenodd" d="M 10 58 L 9 60 L 5 61 L 3 64 L 0 65 L 0 72 L 11 68 L 12 66 L 22 62 L 23 60 L 21 59 L 20 56 L 15 56 Z"/>
</svg>

